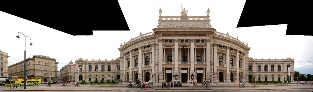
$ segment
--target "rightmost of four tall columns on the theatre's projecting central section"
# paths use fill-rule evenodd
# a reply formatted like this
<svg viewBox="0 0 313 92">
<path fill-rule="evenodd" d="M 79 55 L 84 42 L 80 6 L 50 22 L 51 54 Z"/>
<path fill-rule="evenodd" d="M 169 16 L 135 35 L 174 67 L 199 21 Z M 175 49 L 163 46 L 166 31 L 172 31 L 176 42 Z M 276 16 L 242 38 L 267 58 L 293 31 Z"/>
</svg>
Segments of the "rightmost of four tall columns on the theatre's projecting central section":
<svg viewBox="0 0 313 92">
<path fill-rule="evenodd" d="M 207 68 L 206 68 L 206 72 L 205 72 L 205 77 L 206 77 L 205 79 L 210 79 L 209 77 L 210 77 L 210 75 L 212 75 L 211 70 L 210 70 L 211 69 L 211 60 L 210 60 L 211 39 L 206 39 L 206 41 L 207 41 L 207 47 L 204 48 L 204 49 L 206 49 L 206 51 L 204 52 L 204 58 L 205 58 L 206 64 L 207 64 Z M 203 51 L 204 51 L 204 49 L 203 49 Z M 214 55 L 216 55 L 216 54 L 214 54 Z M 205 70 L 203 70 L 203 71 L 205 71 Z M 211 83 L 212 83 L 212 81 L 211 81 Z"/>
</svg>

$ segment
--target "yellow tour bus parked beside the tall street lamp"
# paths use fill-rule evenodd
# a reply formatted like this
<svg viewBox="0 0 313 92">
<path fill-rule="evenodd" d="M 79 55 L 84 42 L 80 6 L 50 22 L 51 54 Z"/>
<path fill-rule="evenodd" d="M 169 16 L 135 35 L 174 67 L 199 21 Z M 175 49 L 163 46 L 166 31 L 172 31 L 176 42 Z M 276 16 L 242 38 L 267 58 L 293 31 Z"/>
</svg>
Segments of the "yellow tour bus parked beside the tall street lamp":
<svg viewBox="0 0 313 92">
<path fill-rule="evenodd" d="M 17 86 L 24 86 L 24 77 L 21 76 L 12 76 L 13 80 L 9 81 L 9 78 L 6 77 L 5 78 L 5 86 L 13 86 L 13 84 L 15 83 L 15 85 Z M 27 81 L 26 81 L 27 85 L 40 85 L 41 84 L 41 78 L 40 77 L 27 77 Z M 11 83 L 11 84 L 10 84 Z"/>
</svg>

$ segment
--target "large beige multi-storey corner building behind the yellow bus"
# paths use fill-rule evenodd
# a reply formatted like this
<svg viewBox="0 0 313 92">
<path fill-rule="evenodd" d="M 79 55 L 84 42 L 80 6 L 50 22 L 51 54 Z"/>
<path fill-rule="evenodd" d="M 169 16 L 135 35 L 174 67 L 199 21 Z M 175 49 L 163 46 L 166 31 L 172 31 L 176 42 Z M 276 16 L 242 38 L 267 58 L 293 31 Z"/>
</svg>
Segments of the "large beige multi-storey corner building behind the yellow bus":
<svg viewBox="0 0 313 92">
<path fill-rule="evenodd" d="M 57 80 L 58 64 L 56 59 L 49 56 L 33 55 L 26 59 L 26 76 L 41 77 L 41 81 L 49 82 Z M 8 66 L 8 74 L 12 76 L 24 76 L 24 61 Z"/>
</svg>

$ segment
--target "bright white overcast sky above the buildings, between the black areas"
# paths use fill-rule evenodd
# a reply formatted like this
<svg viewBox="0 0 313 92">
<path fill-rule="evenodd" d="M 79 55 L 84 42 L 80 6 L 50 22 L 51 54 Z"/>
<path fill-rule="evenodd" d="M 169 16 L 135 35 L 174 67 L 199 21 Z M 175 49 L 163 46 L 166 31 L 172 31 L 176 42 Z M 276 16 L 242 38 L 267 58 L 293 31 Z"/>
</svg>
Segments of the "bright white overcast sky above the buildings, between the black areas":
<svg viewBox="0 0 313 92">
<path fill-rule="evenodd" d="M 210 9 L 211 25 L 218 32 L 248 42 L 249 57 L 256 59 L 295 59 L 295 71 L 313 74 L 313 36 L 285 35 L 287 24 L 236 28 L 245 0 L 118 0 L 131 31 L 93 31 L 93 36 L 72 36 L 64 32 L 0 11 L 0 50 L 8 53 L 8 66 L 26 58 L 44 55 L 55 58 L 58 70 L 78 58 L 111 60 L 120 56 L 117 48 L 131 38 L 152 32 L 162 16 L 180 16 L 182 8 L 188 16 L 206 16 Z M 105 12 L 105 9 L 103 10 Z M 266 11 L 260 11 L 266 13 Z M 108 12 L 114 16 L 114 12 Z M 117 24 L 117 26 L 119 26 Z M 105 27 L 105 25 L 104 25 Z"/>
</svg>

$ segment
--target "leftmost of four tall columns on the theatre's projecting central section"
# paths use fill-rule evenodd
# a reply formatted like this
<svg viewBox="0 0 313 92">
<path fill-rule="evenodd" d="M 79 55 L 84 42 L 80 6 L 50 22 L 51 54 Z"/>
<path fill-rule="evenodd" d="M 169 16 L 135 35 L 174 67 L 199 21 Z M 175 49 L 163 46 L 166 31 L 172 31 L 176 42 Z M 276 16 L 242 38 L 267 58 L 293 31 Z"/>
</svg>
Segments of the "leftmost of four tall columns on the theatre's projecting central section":
<svg viewBox="0 0 313 92">
<path fill-rule="evenodd" d="M 158 75 L 159 76 L 163 76 L 163 68 L 162 68 L 162 39 L 157 39 L 158 40 L 158 44 L 159 44 L 159 56 L 158 56 L 158 66 L 159 66 L 159 71 L 158 71 Z M 163 79 L 159 80 L 159 81 L 164 81 Z"/>
</svg>

